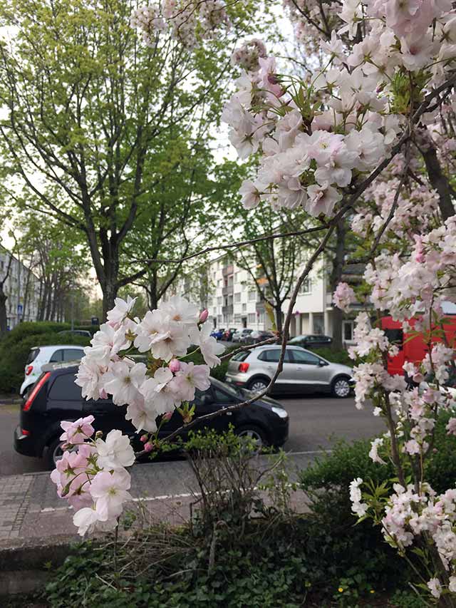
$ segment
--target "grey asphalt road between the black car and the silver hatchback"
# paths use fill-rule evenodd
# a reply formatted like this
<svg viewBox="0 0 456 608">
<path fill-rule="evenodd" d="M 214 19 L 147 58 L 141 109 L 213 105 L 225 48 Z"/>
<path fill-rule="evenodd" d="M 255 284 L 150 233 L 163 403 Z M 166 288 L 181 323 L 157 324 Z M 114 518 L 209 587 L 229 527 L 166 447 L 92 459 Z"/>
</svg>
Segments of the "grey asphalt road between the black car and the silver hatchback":
<svg viewBox="0 0 456 608">
<path fill-rule="evenodd" d="M 383 431 L 383 424 L 372 415 L 371 408 L 358 411 L 353 398 L 305 396 L 278 401 L 290 416 L 289 440 L 284 445 L 288 452 L 314 452 L 330 448 L 337 438 L 353 440 Z M 43 460 L 14 451 L 13 432 L 18 421 L 19 406 L 0 405 L 0 475 L 46 470 Z"/>
</svg>

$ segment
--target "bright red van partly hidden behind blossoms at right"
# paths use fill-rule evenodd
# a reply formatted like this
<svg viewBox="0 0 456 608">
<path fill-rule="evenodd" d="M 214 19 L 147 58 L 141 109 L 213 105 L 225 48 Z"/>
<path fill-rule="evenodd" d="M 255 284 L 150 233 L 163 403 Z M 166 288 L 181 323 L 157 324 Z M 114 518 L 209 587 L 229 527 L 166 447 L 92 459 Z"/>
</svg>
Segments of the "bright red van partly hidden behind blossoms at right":
<svg viewBox="0 0 456 608">
<path fill-rule="evenodd" d="M 456 315 L 448 315 L 446 319 L 448 320 L 448 323 L 443 326 L 445 336 L 448 345 L 455 346 Z M 410 319 L 408 323 L 413 327 L 416 323 L 416 319 Z M 408 361 L 411 361 L 412 363 L 420 363 L 420 361 L 423 361 L 429 348 L 421 334 L 418 334 L 417 336 L 404 334 L 402 323 L 400 321 L 393 321 L 390 316 L 383 317 L 381 326 L 390 343 L 395 344 L 399 348 L 398 355 L 395 357 L 388 357 L 388 373 L 391 375 L 399 374 L 400 376 L 403 376 L 405 373 L 403 364 Z M 432 339 L 432 342 L 441 341 L 442 340 L 437 337 Z"/>
</svg>

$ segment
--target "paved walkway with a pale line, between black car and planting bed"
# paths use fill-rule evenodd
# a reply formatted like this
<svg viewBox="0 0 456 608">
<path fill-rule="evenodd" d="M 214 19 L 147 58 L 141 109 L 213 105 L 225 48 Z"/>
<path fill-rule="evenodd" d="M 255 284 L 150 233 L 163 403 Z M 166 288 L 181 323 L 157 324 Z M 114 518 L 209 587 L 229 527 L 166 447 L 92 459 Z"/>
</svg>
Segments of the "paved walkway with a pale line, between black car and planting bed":
<svg viewBox="0 0 456 608">
<path fill-rule="evenodd" d="M 290 480 L 306 468 L 316 453 L 289 455 L 286 469 Z M 266 465 L 259 458 L 259 467 Z M 197 497 L 197 482 L 185 460 L 134 465 L 131 495 L 136 515 L 148 520 L 179 523 L 188 520 Z M 296 496 L 296 502 L 304 499 Z M 299 505 L 298 505 L 299 506 Z M 49 473 L 26 473 L 0 477 L 0 548 L 15 540 L 52 537 L 76 532 L 72 524 L 73 510 L 58 498 Z"/>
</svg>

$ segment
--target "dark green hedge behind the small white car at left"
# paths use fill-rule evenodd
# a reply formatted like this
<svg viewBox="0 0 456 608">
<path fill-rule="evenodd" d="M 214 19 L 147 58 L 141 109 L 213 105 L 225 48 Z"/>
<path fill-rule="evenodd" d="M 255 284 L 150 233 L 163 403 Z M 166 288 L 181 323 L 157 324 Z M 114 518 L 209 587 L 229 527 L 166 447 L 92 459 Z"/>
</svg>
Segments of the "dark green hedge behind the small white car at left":
<svg viewBox="0 0 456 608">
<path fill-rule="evenodd" d="M 58 334 L 68 325 L 51 321 L 26 322 L 9 331 L 0 341 L 0 391 L 19 391 L 24 381 L 24 367 L 33 346 L 50 344 L 78 344 L 87 346 L 89 338 L 77 334 Z M 57 331 L 56 331 L 57 330 Z"/>
</svg>

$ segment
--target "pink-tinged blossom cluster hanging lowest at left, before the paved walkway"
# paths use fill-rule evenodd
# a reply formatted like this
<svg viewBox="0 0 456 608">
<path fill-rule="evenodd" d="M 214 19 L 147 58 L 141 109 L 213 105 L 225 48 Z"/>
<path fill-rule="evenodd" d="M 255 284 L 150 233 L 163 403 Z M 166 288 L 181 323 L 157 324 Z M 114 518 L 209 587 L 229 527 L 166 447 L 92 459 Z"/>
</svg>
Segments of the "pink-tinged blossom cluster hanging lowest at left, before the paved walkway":
<svg viewBox="0 0 456 608">
<path fill-rule="evenodd" d="M 135 462 L 128 436 L 110 431 L 106 439 L 93 439 L 93 416 L 62 422 L 64 448 L 51 473 L 57 493 L 75 510 L 73 523 L 80 535 L 93 530 L 113 530 L 123 505 L 131 499 L 130 474 Z"/>
</svg>

